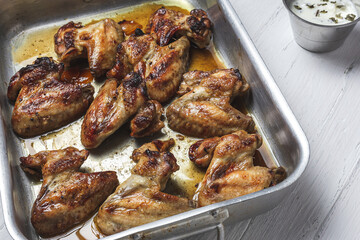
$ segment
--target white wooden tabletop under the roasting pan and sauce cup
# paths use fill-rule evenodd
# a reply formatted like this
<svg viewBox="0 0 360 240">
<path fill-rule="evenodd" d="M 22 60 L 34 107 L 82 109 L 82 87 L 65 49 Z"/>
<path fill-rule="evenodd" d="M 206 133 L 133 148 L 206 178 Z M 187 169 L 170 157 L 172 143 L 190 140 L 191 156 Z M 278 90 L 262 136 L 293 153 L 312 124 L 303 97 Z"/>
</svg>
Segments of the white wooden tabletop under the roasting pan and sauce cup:
<svg viewBox="0 0 360 240">
<path fill-rule="evenodd" d="M 278 207 L 226 226 L 226 239 L 360 239 L 360 25 L 340 49 L 314 54 L 295 43 L 281 0 L 231 3 L 304 129 L 311 157 Z M 0 216 L 0 238 L 10 239 Z"/>
</svg>

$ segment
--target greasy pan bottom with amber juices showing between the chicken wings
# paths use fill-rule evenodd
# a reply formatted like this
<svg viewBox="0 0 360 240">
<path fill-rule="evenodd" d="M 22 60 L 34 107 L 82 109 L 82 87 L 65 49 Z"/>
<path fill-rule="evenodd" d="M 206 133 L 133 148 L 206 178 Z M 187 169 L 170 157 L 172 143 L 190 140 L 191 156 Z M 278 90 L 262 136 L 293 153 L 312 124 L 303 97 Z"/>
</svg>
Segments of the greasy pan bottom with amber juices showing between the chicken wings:
<svg viewBox="0 0 360 240">
<path fill-rule="evenodd" d="M 68 21 L 82 22 L 88 24 L 90 22 L 99 21 L 104 18 L 112 18 L 119 22 L 122 20 L 134 21 L 142 26 L 145 30 L 146 24 L 150 15 L 161 6 L 166 6 L 169 9 L 189 13 L 192 9 L 190 5 L 179 6 L 176 1 L 163 1 L 163 4 L 146 4 L 135 6 L 131 8 L 120 9 L 111 11 L 91 17 L 68 19 Z M 54 52 L 54 34 L 57 29 L 63 25 L 49 25 L 38 29 L 31 29 L 18 35 L 12 43 L 12 57 L 14 62 L 14 70 L 18 70 L 27 64 L 32 63 L 37 57 L 53 57 L 57 59 Z M 78 82 L 91 82 L 93 77 L 89 69 L 85 65 L 81 67 L 73 67 L 66 69 L 63 78 L 66 80 L 76 80 Z M 189 71 L 191 70 L 204 70 L 209 71 L 217 68 L 225 68 L 221 57 L 214 49 L 214 45 L 210 44 L 207 49 L 197 49 L 191 47 L 190 49 L 190 64 Z M 93 86 L 95 90 L 103 84 L 104 79 L 95 79 Z M 239 109 L 246 112 L 244 105 L 240 105 Z M 34 154 L 42 150 L 61 149 L 68 146 L 73 146 L 79 149 L 84 147 L 80 141 L 80 129 L 82 118 L 51 133 L 31 138 L 23 139 L 23 154 Z M 90 150 L 88 159 L 82 166 L 82 170 L 86 172 L 114 170 L 117 172 L 119 181 L 122 182 L 130 175 L 130 170 L 134 163 L 130 159 L 132 151 L 141 146 L 143 143 L 150 142 L 154 139 L 166 140 L 173 138 L 175 146 L 171 152 L 175 155 L 180 170 L 172 174 L 171 179 L 167 184 L 165 192 L 175 194 L 182 197 L 192 198 L 196 190 L 197 184 L 202 180 L 205 171 L 197 168 L 188 159 L 188 149 L 191 144 L 196 142 L 197 138 L 183 136 L 177 132 L 172 131 L 167 123 L 155 136 L 143 139 L 134 139 L 129 136 L 129 125 L 125 124 L 115 134 L 106 139 L 103 144 L 97 149 Z M 263 146 L 255 154 L 255 163 L 257 165 L 274 167 L 276 164 L 273 162 L 271 152 L 267 146 Z M 33 197 L 37 196 L 41 186 L 41 182 L 33 183 Z M 95 216 L 95 214 L 94 214 Z M 93 217 L 94 217 L 93 216 Z M 53 239 L 97 239 L 103 235 L 99 233 L 93 223 L 93 217 L 85 223 L 75 227 L 73 230 L 66 234 L 57 236 Z"/>
</svg>

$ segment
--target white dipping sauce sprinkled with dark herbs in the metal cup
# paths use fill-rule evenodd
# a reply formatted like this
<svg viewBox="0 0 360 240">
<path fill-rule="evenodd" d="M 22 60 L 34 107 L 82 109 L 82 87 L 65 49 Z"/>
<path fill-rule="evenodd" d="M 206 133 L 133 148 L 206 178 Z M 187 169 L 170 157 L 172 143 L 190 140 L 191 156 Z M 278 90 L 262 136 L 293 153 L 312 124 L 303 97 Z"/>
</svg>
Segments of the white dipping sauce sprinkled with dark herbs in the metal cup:
<svg viewBox="0 0 360 240">
<path fill-rule="evenodd" d="M 358 18 L 350 0 L 295 0 L 290 9 L 302 19 L 321 25 L 345 24 Z"/>
</svg>

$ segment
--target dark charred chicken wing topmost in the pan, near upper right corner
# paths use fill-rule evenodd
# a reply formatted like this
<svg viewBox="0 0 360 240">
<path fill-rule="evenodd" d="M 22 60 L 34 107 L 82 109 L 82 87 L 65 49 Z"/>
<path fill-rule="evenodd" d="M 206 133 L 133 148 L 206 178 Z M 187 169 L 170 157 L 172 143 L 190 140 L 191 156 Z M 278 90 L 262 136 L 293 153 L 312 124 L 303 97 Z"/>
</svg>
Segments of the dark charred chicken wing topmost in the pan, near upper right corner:
<svg viewBox="0 0 360 240">
<path fill-rule="evenodd" d="M 173 37 L 187 36 L 199 48 L 205 48 L 210 43 L 211 25 L 206 12 L 201 9 L 185 15 L 162 7 L 150 17 L 147 32 L 160 46 L 167 45 Z"/>
</svg>

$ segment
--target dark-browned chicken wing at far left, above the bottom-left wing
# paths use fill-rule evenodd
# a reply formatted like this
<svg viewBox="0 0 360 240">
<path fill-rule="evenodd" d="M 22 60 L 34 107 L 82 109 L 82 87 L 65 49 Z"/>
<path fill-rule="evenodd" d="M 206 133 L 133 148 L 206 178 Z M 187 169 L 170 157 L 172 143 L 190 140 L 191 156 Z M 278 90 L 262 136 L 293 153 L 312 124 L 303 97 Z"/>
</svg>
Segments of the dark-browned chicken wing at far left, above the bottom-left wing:
<svg viewBox="0 0 360 240">
<path fill-rule="evenodd" d="M 16 99 L 11 123 L 21 137 L 33 137 L 62 127 L 81 117 L 93 100 L 91 84 L 60 78 L 63 65 L 38 58 L 10 80 L 8 98 Z"/>
</svg>

